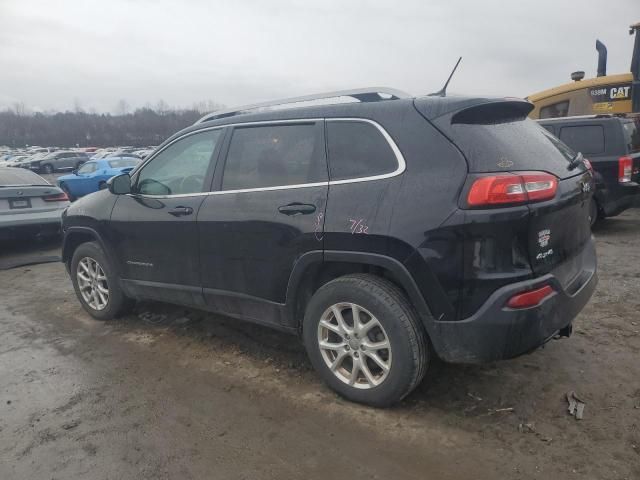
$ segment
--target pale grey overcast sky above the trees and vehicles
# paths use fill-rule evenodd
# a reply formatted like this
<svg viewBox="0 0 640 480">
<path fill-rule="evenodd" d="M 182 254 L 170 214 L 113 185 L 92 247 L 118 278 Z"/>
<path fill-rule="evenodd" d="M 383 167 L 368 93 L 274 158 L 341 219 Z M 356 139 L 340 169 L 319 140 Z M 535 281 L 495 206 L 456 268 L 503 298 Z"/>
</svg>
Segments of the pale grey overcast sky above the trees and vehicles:
<svg viewBox="0 0 640 480">
<path fill-rule="evenodd" d="M 0 108 L 234 106 L 362 86 L 526 96 L 629 71 L 638 0 L 0 0 Z"/>
</svg>

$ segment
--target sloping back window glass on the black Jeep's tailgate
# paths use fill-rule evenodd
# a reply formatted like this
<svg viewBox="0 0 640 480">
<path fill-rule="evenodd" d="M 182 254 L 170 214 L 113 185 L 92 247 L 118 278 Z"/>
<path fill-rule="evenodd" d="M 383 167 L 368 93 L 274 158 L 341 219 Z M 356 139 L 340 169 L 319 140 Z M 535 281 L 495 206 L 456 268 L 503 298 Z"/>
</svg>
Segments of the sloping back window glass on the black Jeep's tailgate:
<svg viewBox="0 0 640 480">
<path fill-rule="evenodd" d="M 567 169 L 573 158 L 571 149 L 528 118 L 490 124 L 454 123 L 448 130 L 471 172 L 539 170 L 560 178 L 580 172 L 569 173 Z"/>
</svg>

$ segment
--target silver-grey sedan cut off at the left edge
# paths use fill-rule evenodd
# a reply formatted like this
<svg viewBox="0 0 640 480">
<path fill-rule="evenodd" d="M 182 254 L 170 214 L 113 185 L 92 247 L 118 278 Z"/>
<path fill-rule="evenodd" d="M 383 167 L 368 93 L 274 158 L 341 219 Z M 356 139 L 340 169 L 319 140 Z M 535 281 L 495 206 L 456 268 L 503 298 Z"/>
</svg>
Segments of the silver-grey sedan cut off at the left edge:
<svg viewBox="0 0 640 480">
<path fill-rule="evenodd" d="M 0 239 L 60 232 L 66 194 L 29 170 L 0 167 Z"/>
</svg>

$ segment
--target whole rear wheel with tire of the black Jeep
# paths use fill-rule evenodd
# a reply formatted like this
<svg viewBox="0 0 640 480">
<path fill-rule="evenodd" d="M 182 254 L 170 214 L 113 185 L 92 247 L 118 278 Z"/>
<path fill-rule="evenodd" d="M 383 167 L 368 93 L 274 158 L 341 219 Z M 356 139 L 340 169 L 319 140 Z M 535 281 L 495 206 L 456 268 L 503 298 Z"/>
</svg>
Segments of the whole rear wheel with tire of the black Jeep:
<svg viewBox="0 0 640 480">
<path fill-rule="evenodd" d="M 426 373 L 425 332 L 393 283 L 346 275 L 311 298 L 303 338 L 311 363 L 343 397 L 388 407 L 407 396 Z"/>
</svg>

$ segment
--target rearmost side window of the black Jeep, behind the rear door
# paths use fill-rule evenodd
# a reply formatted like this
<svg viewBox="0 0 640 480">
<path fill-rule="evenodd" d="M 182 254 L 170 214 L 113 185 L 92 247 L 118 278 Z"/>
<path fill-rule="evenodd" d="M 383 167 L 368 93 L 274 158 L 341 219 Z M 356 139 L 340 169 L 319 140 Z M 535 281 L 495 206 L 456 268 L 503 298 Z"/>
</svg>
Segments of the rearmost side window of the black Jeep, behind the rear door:
<svg viewBox="0 0 640 480">
<path fill-rule="evenodd" d="M 374 125 L 359 121 L 327 121 L 331 180 L 371 177 L 398 168 L 389 142 Z"/>
</svg>

